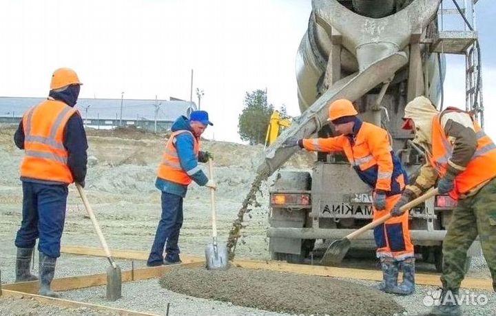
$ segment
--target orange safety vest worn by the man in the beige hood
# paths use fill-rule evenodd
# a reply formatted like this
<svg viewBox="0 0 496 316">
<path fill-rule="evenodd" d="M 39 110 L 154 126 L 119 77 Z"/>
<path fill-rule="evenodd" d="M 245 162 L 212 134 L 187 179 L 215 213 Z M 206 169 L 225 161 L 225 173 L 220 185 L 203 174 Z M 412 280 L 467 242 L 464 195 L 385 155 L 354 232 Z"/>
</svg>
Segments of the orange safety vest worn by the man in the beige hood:
<svg viewBox="0 0 496 316">
<path fill-rule="evenodd" d="M 459 112 L 464 111 L 459 110 Z M 453 154 L 453 145 L 448 141 L 441 126 L 441 115 L 437 114 L 433 118 L 433 154 L 428 157 L 429 162 L 437 170 L 440 177 L 446 174 L 448 160 Z M 449 193 L 451 198 L 455 200 L 459 198 L 460 194 L 467 193 L 477 185 L 496 176 L 496 146 L 477 122 L 473 122 L 473 127 L 475 136 L 477 136 L 477 149 L 465 171 L 458 173 L 455 177 L 455 187 Z"/>
</svg>

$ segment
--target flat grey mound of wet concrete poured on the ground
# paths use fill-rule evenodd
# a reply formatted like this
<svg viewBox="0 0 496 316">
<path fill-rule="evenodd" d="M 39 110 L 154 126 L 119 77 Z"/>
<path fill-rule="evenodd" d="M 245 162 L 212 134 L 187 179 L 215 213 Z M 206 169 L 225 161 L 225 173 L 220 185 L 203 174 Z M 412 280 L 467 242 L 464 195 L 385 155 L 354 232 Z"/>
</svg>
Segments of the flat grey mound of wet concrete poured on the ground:
<svg viewBox="0 0 496 316">
<path fill-rule="evenodd" d="M 160 282 L 177 293 L 298 315 L 390 316 L 404 310 L 391 297 L 371 288 L 296 273 L 178 267 Z"/>
</svg>

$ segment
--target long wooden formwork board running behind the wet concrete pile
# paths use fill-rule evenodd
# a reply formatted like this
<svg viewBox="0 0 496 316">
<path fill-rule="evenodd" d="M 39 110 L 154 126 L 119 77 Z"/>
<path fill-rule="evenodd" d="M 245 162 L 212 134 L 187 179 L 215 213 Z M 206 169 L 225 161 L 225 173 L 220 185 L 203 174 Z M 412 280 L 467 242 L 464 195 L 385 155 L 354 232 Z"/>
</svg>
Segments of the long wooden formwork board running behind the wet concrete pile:
<svg viewBox="0 0 496 316">
<path fill-rule="evenodd" d="M 66 252 L 67 251 L 67 252 Z M 96 248 L 88 248 L 83 246 L 65 246 L 62 249 L 64 253 L 84 254 L 103 256 L 103 251 Z M 145 251 L 132 251 L 130 256 L 126 256 L 128 251 L 112 251 L 112 255 L 127 259 L 147 260 L 148 253 Z M 187 258 L 189 262 L 201 263 L 205 262 L 204 257 L 181 255 L 181 258 Z M 195 261 L 196 260 L 196 261 Z M 185 260 L 183 260 L 185 261 Z M 365 270 L 358 268 L 338 268 L 334 266 L 310 266 L 307 264 L 288 264 L 278 261 L 254 261 L 254 260 L 233 260 L 234 266 L 251 269 L 265 269 L 280 272 L 292 272 L 308 275 L 320 275 L 324 277 L 343 277 L 355 280 L 371 280 L 382 281 L 382 272 L 377 270 Z M 436 273 L 415 273 L 415 284 L 442 286 L 440 275 Z M 476 290 L 493 291 L 493 280 L 465 278 L 462 282 L 462 288 L 472 288 Z"/>
</svg>

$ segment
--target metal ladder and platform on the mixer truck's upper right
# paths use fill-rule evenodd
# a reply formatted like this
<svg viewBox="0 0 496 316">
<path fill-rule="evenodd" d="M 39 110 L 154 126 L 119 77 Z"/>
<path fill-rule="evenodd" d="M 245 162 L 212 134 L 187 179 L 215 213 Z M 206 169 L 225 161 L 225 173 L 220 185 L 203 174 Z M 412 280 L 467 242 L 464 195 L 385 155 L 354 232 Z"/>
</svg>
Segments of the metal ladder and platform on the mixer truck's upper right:
<svg viewBox="0 0 496 316">
<path fill-rule="evenodd" d="M 443 0 L 437 14 L 438 32 L 432 48 L 442 54 L 465 55 L 466 111 L 484 127 L 481 54 L 475 25 L 478 0 Z"/>
</svg>

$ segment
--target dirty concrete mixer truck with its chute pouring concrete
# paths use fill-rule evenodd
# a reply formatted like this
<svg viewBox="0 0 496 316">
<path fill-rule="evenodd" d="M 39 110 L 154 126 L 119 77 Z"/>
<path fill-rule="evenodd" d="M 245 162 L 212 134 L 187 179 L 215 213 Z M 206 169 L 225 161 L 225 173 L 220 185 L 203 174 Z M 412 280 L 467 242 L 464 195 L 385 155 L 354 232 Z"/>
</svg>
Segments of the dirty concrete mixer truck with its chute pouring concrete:
<svg viewBox="0 0 496 316">
<path fill-rule="evenodd" d="M 371 189 L 339 154 L 318 154 L 312 171 L 279 170 L 295 152 L 290 137 L 333 136 L 330 101 L 351 100 L 360 116 L 391 135 L 409 178 L 424 162 L 422 149 L 400 128 L 406 103 L 424 95 L 443 107 L 445 54 L 466 59 L 466 109 L 484 123 L 476 0 L 313 0 L 298 49 L 301 116 L 265 150 L 259 173 L 277 172 L 271 187 L 269 249 L 274 260 L 309 262 L 317 244 L 338 240 L 371 221 Z M 451 28 L 450 19 L 462 21 Z M 453 23 L 454 25 L 455 23 Z M 464 78 L 459 78 L 463 81 Z M 462 106 L 462 105 L 458 105 Z M 441 268 L 442 240 L 455 201 L 436 196 L 410 213 L 415 253 Z M 374 249 L 372 231 L 353 240 Z M 479 252 L 478 242 L 471 255 Z M 469 264 L 469 261 L 467 262 Z"/>
</svg>

